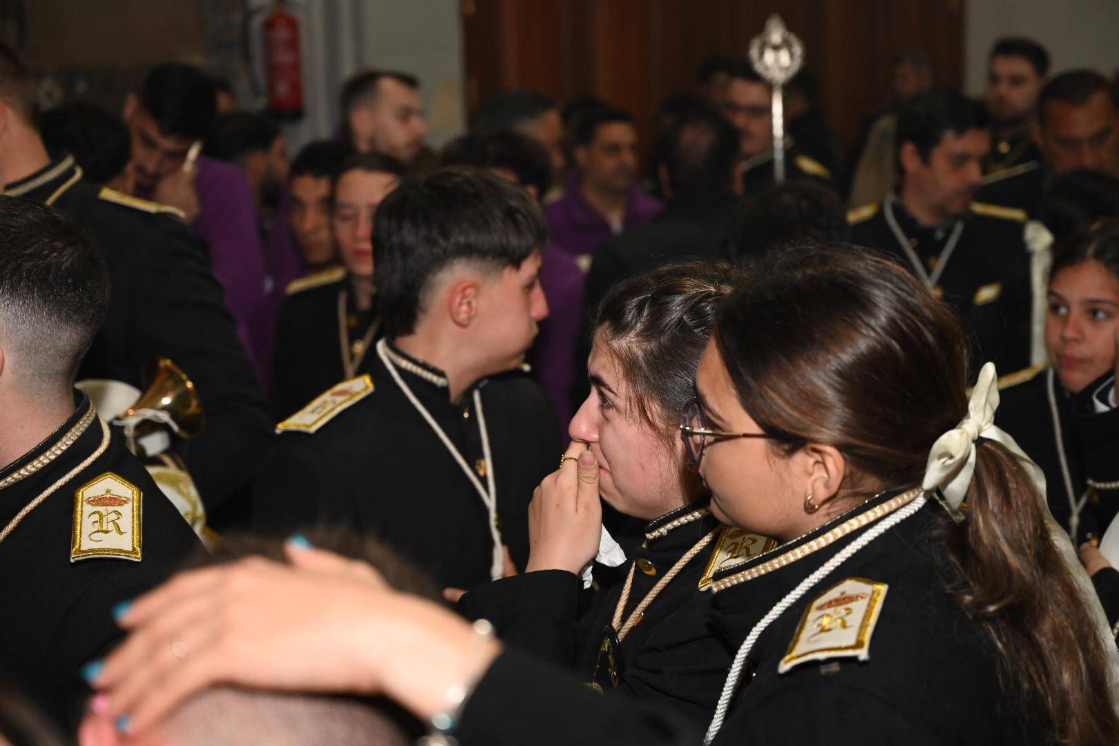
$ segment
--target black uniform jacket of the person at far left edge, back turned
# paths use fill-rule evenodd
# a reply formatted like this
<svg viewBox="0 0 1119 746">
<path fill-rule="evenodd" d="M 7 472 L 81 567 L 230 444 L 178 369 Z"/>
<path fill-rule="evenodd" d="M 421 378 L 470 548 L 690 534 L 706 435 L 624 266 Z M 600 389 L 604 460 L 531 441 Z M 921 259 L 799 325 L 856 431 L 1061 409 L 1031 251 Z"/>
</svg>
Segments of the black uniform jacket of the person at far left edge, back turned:
<svg viewBox="0 0 1119 746">
<path fill-rule="evenodd" d="M 78 671 L 122 636 L 115 604 L 162 582 L 198 537 L 159 491 L 122 436 L 106 435 L 85 395 L 75 413 L 34 450 L 0 470 L 0 530 L 56 482 L 63 483 L 0 540 L 0 679 L 31 697 L 46 712 L 73 726 L 90 695 Z M 90 460 L 101 448 L 104 451 Z M 90 461 L 87 461 L 90 460 Z M 73 471 L 72 470 L 76 470 Z M 92 509 L 76 514 L 78 491 L 112 473 L 140 492 L 139 557 L 70 560 L 77 531 L 93 531 Z M 121 490 L 114 488 L 113 492 Z M 101 494 L 96 489 L 92 498 Z M 87 495 L 87 498 L 91 495 Z M 129 495 L 124 495 L 129 497 Z M 102 509 L 113 526 L 111 508 Z M 128 530 L 129 523 L 123 527 Z M 96 546 L 95 536 L 86 546 Z"/>
</svg>

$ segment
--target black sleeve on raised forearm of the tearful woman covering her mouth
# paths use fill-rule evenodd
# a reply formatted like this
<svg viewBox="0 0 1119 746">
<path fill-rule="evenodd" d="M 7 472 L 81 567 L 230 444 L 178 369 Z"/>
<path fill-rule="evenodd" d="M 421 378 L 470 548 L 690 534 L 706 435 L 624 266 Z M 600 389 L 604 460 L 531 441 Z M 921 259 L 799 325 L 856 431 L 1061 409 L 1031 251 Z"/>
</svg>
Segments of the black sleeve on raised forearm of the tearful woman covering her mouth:
<svg viewBox="0 0 1119 746">
<path fill-rule="evenodd" d="M 508 645 L 571 668 L 579 591 L 579 576 L 565 570 L 521 573 L 471 588 L 455 611 L 489 620 Z"/>
</svg>

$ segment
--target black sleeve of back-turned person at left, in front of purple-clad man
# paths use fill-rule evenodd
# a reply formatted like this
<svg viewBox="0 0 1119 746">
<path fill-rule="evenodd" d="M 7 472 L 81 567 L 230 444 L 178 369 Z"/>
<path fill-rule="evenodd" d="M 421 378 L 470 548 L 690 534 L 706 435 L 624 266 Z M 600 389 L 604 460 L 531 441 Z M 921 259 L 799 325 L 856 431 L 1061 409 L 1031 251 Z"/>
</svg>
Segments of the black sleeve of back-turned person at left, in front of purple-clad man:
<svg viewBox="0 0 1119 746">
<path fill-rule="evenodd" d="M 184 459 L 209 513 L 246 491 L 267 447 L 267 405 L 256 372 L 225 309 L 222 289 L 186 228 L 156 224 L 159 245 L 143 257 L 133 312 L 141 359 L 167 357 L 194 381 L 206 428 Z"/>
</svg>

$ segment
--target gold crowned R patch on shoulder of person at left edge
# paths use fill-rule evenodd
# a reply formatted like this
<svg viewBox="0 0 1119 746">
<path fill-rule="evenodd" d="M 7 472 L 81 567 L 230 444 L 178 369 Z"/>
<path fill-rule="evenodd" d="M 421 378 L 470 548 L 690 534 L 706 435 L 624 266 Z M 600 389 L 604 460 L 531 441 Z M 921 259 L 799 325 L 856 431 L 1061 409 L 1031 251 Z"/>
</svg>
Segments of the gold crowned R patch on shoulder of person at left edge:
<svg viewBox="0 0 1119 746">
<path fill-rule="evenodd" d="M 142 497 L 140 488 L 113 472 L 78 488 L 74 493 L 70 561 L 90 557 L 140 561 Z"/>
</svg>

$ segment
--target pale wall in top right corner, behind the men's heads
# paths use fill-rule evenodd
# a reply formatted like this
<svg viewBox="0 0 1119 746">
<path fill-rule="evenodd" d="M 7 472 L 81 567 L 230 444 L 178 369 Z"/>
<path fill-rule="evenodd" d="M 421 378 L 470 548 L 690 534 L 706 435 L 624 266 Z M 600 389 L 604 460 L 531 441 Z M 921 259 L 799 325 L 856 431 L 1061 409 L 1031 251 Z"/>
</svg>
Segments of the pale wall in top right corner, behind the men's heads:
<svg viewBox="0 0 1119 746">
<path fill-rule="evenodd" d="M 967 0 L 963 19 L 965 86 L 981 95 L 987 55 L 1002 36 L 1028 36 L 1049 49 L 1051 72 L 1119 67 L 1119 0 Z"/>
</svg>

